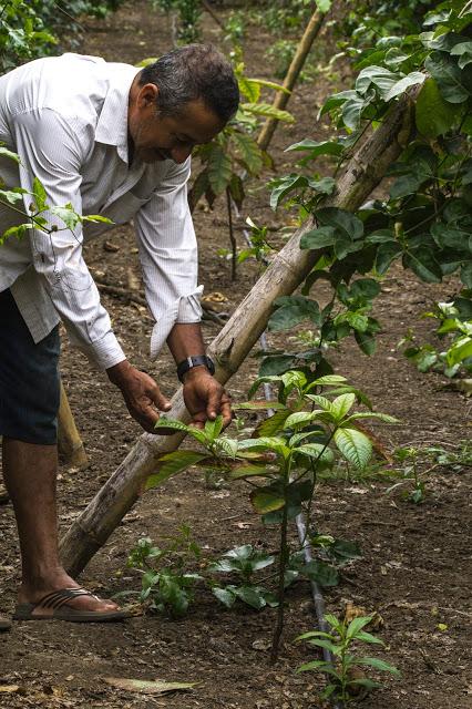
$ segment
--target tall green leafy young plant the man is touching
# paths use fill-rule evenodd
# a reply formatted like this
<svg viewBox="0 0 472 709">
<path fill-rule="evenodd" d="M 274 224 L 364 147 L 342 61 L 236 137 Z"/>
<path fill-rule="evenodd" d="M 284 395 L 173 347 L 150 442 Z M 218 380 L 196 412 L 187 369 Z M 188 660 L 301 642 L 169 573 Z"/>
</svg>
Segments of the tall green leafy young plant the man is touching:
<svg viewBox="0 0 472 709">
<path fill-rule="evenodd" d="M 305 507 L 308 534 L 311 532 L 309 516 L 317 473 L 334 464 L 335 452 L 357 467 L 361 469 L 368 463 L 372 445 L 368 436 L 356 428 L 356 421 L 377 418 L 391 423 L 394 419 L 372 411 L 352 412 L 356 390 L 347 386 L 346 379 L 340 376 L 309 381 L 301 371 L 288 371 L 280 377 L 263 377 L 256 380 L 249 397 L 264 382 L 278 387 L 277 401 L 248 402 L 238 407 L 275 410 L 269 419 L 258 425 L 253 438 L 234 441 L 219 436 L 220 417 L 207 422 L 204 431 L 165 417 L 160 419 L 156 428 L 185 431 L 195 438 L 222 467 L 226 467 L 232 480 L 246 481 L 252 489 L 249 497 L 253 507 L 263 516 L 264 523 L 279 525 L 278 610 L 271 650 L 275 661 L 284 627 L 285 589 L 290 565 L 288 521 Z M 358 395 L 358 399 L 361 397 Z M 198 451 L 176 451 L 163 455 L 160 470 L 151 476 L 148 486 L 189 465 L 202 464 L 205 458 L 207 453 Z M 208 459 L 205 463 L 208 463 Z M 332 574 L 326 574 L 320 563 L 295 571 L 325 585 L 337 583 Z"/>
</svg>

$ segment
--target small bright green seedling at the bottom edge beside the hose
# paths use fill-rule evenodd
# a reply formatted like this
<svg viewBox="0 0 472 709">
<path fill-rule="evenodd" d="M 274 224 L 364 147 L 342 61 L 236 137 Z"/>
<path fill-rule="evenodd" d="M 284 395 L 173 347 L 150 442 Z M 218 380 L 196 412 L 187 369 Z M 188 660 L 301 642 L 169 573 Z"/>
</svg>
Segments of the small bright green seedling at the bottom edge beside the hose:
<svg viewBox="0 0 472 709">
<path fill-rule="evenodd" d="M 336 698 L 343 703 L 356 701 L 360 688 L 367 690 L 381 685 L 372 679 L 359 676 L 361 667 L 371 667 L 376 670 L 399 676 L 399 670 L 377 657 L 366 657 L 355 654 L 352 646 L 365 643 L 367 645 L 382 645 L 382 640 L 367 633 L 363 628 L 372 620 L 372 616 L 358 617 L 349 624 L 341 621 L 334 615 L 326 615 L 325 620 L 330 626 L 330 633 L 310 630 L 298 636 L 297 640 L 306 640 L 316 648 L 324 648 L 331 653 L 334 660 L 311 660 L 301 665 L 297 672 L 324 672 L 329 675 L 331 681 L 324 690 L 321 698 Z"/>
</svg>

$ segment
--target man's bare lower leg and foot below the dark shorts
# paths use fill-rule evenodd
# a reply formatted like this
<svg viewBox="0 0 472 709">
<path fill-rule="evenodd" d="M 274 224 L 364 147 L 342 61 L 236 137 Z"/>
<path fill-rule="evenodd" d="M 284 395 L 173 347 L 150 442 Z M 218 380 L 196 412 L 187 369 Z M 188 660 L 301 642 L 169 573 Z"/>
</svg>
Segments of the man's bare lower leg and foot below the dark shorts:
<svg viewBox="0 0 472 709">
<path fill-rule="evenodd" d="M 55 445 L 38 445 L 3 438 L 3 477 L 13 503 L 22 558 L 20 603 L 37 603 L 45 594 L 79 585 L 59 559 L 55 504 L 58 452 Z M 91 596 L 71 599 L 76 609 L 109 612 L 110 600 Z M 41 615 L 52 615 L 40 608 Z"/>
</svg>

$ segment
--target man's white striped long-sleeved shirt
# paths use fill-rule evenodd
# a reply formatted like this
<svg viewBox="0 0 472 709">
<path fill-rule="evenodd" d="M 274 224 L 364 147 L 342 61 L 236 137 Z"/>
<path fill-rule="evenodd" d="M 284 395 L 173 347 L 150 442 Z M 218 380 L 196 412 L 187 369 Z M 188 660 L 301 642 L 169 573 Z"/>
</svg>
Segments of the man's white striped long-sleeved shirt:
<svg viewBox="0 0 472 709">
<path fill-rule="evenodd" d="M 201 319 L 197 253 L 187 206 L 189 158 L 129 165 L 129 92 L 137 69 L 95 56 L 40 59 L 0 78 L 0 142 L 22 164 L 0 156 L 9 187 L 32 188 L 37 176 L 48 204 L 72 203 L 79 214 L 115 224 L 134 219 L 146 299 L 156 323 L 155 358 L 175 322 Z M 28 212 L 32 198 L 24 195 Z M 21 203 L 17 203 L 21 205 Z M 47 213 L 49 225 L 63 223 Z M 27 222 L 0 204 L 0 234 Z M 62 320 L 73 345 L 101 369 L 125 356 L 82 257 L 82 242 L 112 228 L 86 224 L 74 234 L 32 229 L 0 246 L 0 291 L 11 288 L 35 342 Z M 0 323 L 1 325 L 1 323 Z"/>
</svg>

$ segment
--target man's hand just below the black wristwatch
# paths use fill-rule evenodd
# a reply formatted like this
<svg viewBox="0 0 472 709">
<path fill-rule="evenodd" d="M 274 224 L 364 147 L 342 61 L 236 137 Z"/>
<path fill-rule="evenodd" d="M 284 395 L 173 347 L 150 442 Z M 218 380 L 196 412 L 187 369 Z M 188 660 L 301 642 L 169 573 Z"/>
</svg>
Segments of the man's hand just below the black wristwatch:
<svg viewBox="0 0 472 709">
<path fill-rule="evenodd" d="M 205 421 L 223 417 L 223 427 L 232 421 L 229 395 L 205 367 L 193 367 L 184 374 L 184 401 L 192 425 L 203 429 Z"/>
</svg>

